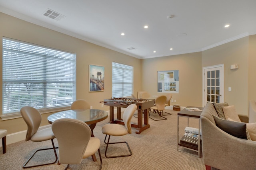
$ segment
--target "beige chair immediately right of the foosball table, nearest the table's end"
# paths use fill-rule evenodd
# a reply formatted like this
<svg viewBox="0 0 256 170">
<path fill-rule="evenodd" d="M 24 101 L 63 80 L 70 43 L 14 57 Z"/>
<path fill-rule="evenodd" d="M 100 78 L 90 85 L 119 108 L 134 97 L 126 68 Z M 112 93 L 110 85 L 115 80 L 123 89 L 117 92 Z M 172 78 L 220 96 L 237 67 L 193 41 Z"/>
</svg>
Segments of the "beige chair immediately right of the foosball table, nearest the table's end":
<svg viewBox="0 0 256 170">
<path fill-rule="evenodd" d="M 155 121 L 158 121 L 158 120 L 166 120 L 167 118 L 166 117 L 163 117 L 163 111 L 164 111 L 164 107 L 165 107 L 165 102 L 166 102 L 166 96 L 162 95 L 162 96 L 157 96 L 156 99 L 155 99 L 155 106 L 153 107 L 150 107 L 150 110 L 149 110 L 149 117 L 150 117 L 150 114 L 151 114 L 151 110 L 153 110 L 152 112 L 153 113 L 158 113 L 159 117 L 162 117 L 163 119 L 153 119 L 152 117 L 150 117 L 150 119 L 153 119 Z"/>
</svg>

